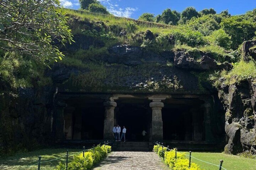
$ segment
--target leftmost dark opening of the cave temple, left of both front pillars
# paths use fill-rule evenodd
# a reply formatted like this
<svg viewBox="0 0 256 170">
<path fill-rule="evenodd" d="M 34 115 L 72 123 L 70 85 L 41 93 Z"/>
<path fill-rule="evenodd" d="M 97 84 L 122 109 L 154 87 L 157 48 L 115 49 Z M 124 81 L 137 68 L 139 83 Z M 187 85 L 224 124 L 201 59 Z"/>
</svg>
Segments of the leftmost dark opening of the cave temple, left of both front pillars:
<svg viewBox="0 0 256 170">
<path fill-rule="evenodd" d="M 65 139 L 102 140 L 104 107 L 100 98 L 71 98 L 64 110 Z"/>
</svg>

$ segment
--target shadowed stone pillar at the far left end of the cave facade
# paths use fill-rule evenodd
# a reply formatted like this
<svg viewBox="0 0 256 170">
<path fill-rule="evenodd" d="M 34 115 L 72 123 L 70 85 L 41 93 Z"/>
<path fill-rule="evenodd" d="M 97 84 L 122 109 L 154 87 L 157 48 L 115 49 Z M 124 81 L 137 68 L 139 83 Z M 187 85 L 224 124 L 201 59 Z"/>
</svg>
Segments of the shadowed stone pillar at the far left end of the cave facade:
<svg viewBox="0 0 256 170">
<path fill-rule="evenodd" d="M 64 120 L 64 109 L 67 107 L 67 104 L 58 101 L 55 109 L 55 138 L 56 140 L 63 140 L 64 135 L 64 126 L 65 126 L 65 120 Z"/>
</svg>

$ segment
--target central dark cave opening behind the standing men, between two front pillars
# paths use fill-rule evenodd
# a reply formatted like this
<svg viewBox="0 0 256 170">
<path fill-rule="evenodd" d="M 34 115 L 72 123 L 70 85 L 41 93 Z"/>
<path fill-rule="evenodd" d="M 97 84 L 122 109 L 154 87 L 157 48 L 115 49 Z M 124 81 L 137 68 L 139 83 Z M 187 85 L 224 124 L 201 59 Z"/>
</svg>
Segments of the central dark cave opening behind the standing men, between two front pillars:
<svg viewBox="0 0 256 170">
<path fill-rule="evenodd" d="M 147 99 L 119 99 L 117 100 L 116 124 L 126 128 L 126 140 L 148 141 L 152 111 Z M 142 131 L 147 132 L 142 136 Z M 121 135 L 121 134 L 120 134 Z"/>
</svg>

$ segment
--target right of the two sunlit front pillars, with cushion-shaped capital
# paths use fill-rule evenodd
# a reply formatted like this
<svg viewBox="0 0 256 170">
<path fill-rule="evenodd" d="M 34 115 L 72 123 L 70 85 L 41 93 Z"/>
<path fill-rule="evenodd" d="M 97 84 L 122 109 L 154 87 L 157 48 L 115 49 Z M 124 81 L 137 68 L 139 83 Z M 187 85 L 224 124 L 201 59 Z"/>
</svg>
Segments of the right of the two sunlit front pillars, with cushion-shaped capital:
<svg viewBox="0 0 256 170">
<path fill-rule="evenodd" d="M 164 104 L 161 102 L 165 98 L 149 97 L 152 102 L 149 107 L 152 108 L 152 141 L 163 140 L 163 120 L 162 120 L 162 108 Z"/>
</svg>

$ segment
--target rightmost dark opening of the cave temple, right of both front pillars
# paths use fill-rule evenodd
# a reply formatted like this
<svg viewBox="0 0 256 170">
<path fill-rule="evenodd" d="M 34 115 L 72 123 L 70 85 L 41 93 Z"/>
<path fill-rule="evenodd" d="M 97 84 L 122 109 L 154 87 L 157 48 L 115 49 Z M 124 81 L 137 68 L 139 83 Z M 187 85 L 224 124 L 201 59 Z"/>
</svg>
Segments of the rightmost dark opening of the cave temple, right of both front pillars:
<svg viewBox="0 0 256 170">
<path fill-rule="evenodd" d="M 205 141 L 204 110 L 198 99 L 167 99 L 162 108 L 163 139 Z"/>
</svg>

